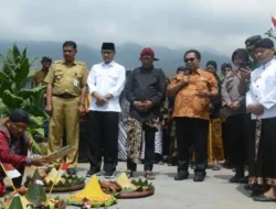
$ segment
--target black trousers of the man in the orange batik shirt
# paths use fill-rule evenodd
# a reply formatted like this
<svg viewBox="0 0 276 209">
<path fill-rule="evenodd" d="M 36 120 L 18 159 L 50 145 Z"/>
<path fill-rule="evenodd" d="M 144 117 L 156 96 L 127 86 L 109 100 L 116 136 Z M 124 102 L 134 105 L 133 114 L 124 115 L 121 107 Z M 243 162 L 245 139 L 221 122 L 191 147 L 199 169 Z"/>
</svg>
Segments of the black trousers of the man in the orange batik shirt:
<svg viewBox="0 0 276 209">
<path fill-rule="evenodd" d="M 189 168 L 190 148 L 193 144 L 194 174 L 205 175 L 208 166 L 209 121 L 194 118 L 177 118 L 178 173 Z"/>
</svg>

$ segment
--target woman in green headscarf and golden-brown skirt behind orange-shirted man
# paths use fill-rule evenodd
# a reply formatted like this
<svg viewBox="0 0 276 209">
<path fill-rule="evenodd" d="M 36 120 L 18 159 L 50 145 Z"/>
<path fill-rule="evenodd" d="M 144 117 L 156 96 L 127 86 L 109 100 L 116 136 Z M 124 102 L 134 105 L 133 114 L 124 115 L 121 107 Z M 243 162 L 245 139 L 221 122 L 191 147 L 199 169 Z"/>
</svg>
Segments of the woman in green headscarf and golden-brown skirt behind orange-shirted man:
<svg viewBox="0 0 276 209">
<path fill-rule="evenodd" d="M 216 74 L 217 65 L 214 61 L 206 63 L 205 70 L 213 74 L 219 90 L 221 90 L 221 80 Z M 220 91 L 219 91 L 220 92 Z M 223 143 L 222 143 L 222 119 L 221 119 L 222 100 L 221 96 L 211 98 L 210 103 L 210 125 L 208 138 L 208 161 L 213 162 L 213 170 L 219 170 L 219 161 L 224 160 Z"/>
</svg>

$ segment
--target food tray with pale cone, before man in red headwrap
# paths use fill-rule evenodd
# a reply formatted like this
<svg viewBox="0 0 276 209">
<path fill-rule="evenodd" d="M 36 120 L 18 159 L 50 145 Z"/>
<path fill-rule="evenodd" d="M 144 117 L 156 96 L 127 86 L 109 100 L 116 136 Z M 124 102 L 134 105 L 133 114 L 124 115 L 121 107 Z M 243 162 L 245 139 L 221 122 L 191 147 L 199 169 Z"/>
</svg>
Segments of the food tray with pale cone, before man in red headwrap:
<svg viewBox="0 0 276 209">
<path fill-rule="evenodd" d="M 117 198 L 140 198 L 155 194 L 155 187 L 147 179 L 132 179 L 123 173 L 116 182 L 102 182 L 102 189 L 106 194 L 116 196 Z"/>
</svg>

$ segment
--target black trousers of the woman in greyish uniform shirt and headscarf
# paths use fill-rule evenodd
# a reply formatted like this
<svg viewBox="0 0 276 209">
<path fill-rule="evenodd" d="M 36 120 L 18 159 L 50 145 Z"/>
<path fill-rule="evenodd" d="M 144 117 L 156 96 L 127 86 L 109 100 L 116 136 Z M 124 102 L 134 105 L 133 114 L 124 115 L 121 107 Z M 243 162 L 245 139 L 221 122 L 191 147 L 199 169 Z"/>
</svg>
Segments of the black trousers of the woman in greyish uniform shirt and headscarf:
<svg viewBox="0 0 276 209">
<path fill-rule="evenodd" d="M 246 132 L 244 120 L 246 114 L 235 114 L 226 119 L 226 130 L 230 143 L 230 158 L 235 165 L 236 175 L 244 177 L 244 162 L 247 157 L 246 153 Z"/>
</svg>

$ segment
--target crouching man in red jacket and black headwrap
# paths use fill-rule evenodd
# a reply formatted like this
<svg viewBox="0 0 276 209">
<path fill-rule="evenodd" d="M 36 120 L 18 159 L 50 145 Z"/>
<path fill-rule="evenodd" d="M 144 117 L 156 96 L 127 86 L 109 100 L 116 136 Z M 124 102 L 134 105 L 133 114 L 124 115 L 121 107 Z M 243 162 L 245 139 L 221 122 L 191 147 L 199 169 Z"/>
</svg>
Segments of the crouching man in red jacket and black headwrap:
<svg viewBox="0 0 276 209">
<path fill-rule="evenodd" d="M 23 176 L 25 166 L 41 166 L 47 162 L 46 156 L 29 158 L 29 138 L 25 134 L 30 118 L 23 110 L 14 110 L 9 118 L 0 122 L 0 162 L 13 165 Z M 21 187 L 22 176 L 13 178 L 17 188 Z M 0 196 L 6 193 L 6 175 L 0 168 Z"/>
</svg>

